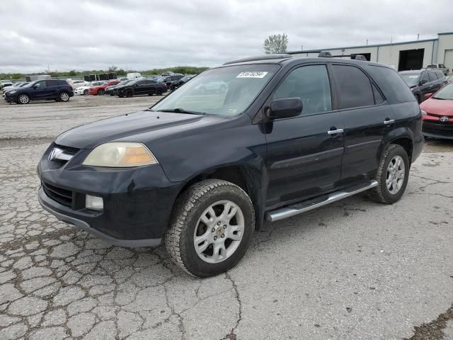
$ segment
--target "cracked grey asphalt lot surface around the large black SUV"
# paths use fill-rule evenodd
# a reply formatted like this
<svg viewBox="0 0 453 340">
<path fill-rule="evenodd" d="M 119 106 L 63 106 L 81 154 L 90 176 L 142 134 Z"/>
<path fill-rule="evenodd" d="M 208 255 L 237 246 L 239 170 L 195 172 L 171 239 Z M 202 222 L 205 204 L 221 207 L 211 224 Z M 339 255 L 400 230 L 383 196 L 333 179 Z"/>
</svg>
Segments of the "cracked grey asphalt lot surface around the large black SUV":
<svg viewBox="0 0 453 340">
<path fill-rule="evenodd" d="M 453 339 L 453 142 L 425 145 L 398 203 L 267 224 L 214 278 L 40 208 L 35 168 L 59 132 L 156 99 L 0 103 L 0 339 Z"/>
</svg>

